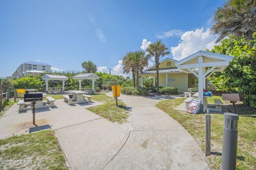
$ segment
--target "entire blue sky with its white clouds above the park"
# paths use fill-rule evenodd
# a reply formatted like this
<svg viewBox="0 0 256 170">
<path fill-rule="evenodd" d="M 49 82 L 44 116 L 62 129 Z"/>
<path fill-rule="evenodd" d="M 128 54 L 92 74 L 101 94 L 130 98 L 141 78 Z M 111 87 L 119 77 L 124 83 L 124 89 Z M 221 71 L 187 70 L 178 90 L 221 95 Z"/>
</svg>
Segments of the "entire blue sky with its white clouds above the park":
<svg viewBox="0 0 256 170">
<path fill-rule="evenodd" d="M 145 49 L 159 38 L 170 48 L 169 57 L 179 60 L 213 47 L 216 37 L 207 28 L 222 4 L 0 0 L 0 77 L 26 61 L 49 63 L 55 70 L 82 70 L 81 63 L 91 60 L 99 70 L 121 74 L 118 61 L 126 52 Z"/>
</svg>

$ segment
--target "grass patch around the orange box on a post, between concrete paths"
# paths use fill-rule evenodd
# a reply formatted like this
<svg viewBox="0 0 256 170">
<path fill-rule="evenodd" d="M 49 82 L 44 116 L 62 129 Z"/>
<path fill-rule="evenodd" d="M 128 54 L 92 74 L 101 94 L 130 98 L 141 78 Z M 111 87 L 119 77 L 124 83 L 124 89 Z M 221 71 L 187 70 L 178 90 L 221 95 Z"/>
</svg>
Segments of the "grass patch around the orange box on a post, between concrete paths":
<svg viewBox="0 0 256 170">
<path fill-rule="evenodd" d="M 118 101 L 118 107 L 116 107 L 115 100 L 105 94 L 93 94 L 90 96 L 93 96 L 92 100 L 100 101 L 101 103 L 104 103 L 104 105 L 89 107 L 87 108 L 89 111 L 107 118 L 111 122 L 122 124 L 127 121 L 129 111 L 122 101 Z"/>
</svg>

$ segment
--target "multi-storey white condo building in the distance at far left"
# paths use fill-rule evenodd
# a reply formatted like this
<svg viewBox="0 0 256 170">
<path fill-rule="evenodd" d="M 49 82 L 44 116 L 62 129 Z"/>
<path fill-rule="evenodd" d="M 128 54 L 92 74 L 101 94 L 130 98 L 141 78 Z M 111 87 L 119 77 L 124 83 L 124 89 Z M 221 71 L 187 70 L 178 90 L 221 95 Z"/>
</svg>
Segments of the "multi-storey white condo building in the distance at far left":
<svg viewBox="0 0 256 170">
<path fill-rule="evenodd" d="M 40 74 L 44 72 L 51 72 L 51 65 L 39 62 L 25 62 L 21 64 L 17 70 L 12 74 L 14 79 L 22 78 L 27 74 Z"/>
</svg>

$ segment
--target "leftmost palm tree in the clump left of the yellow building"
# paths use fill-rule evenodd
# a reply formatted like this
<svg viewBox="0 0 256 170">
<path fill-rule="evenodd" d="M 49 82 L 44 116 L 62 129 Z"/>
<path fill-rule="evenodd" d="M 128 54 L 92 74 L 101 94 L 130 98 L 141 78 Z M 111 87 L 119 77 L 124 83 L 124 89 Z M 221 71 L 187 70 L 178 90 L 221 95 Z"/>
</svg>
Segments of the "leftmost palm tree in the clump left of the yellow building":
<svg viewBox="0 0 256 170">
<path fill-rule="evenodd" d="M 130 73 L 132 72 L 132 79 L 133 79 L 133 87 L 135 87 L 135 72 L 134 72 L 134 68 L 135 68 L 135 64 L 134 62 L 131 61 L 131 56 L 133 55 L 132 52 L 128 52 L 125 54 L 125 56 L 123 57 L 123 73 Z"/>
</svg>

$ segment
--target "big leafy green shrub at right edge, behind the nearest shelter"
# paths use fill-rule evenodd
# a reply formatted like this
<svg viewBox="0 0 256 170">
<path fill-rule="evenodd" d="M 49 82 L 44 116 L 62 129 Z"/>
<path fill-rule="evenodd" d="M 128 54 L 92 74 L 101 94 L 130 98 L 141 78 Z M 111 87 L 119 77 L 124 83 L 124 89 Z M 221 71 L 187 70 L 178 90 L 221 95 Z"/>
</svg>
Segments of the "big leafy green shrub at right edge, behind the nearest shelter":
<svg viewBox="0 0 256 170">
<path fill-rule="evenodd" d="M 226 70 L 210 79 L 218 91 L 244 94 L 244 103 L 256 108 L 256 33 L 253 39 L 228 37 L 211 52 L 234 56 Z"/>
</svg>

